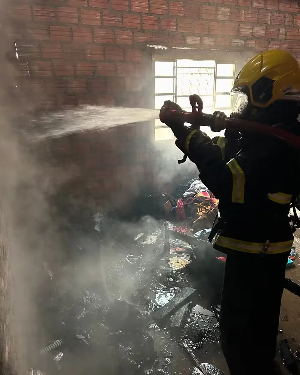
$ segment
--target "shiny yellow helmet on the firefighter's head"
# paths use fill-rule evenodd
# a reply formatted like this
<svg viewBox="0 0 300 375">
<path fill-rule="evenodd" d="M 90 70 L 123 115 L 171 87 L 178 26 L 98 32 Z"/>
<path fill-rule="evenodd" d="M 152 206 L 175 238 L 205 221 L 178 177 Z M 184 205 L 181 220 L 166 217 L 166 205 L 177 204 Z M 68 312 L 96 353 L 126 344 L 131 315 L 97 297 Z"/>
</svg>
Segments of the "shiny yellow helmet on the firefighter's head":
<svg viewBox="0 0 300 375">
<path fill-rule="evenodd" d="M 231 94 L 243 93 L 248 102 L 266 108 L 281 99 L 300 100 L 300 68 L 290 53 L 275 49 L 253 57 L 234 81 Z"/>
</svg>

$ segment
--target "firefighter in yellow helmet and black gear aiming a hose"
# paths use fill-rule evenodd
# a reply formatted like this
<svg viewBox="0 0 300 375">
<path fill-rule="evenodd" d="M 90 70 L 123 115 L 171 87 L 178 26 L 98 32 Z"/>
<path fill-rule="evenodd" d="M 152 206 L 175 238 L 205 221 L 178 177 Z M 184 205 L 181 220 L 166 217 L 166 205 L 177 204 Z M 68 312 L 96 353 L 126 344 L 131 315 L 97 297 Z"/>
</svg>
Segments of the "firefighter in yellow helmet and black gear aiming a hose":
<svg viewBox="0 0 300 375">
<path fill-rule="evenodd" d="M 300 135 L 300 69 L 288 52 L 266 51 L 252 58 L 231 94 L 237 96 L 231 117 Z M 300 193 L 299 156 L 270 135 L 241 134 L 226 153 L 218 139 L 214 144 L 201 130 L 179 122 L 168 126 L 177 147 L 219 199 L 220 217 L 210 240 L 227 255 L 220 330 L 231 375 L 277 374 L 281 297 L 294 239 L 288 214 Z M 225 137 L 223 146 L 227 142 Z"/>
</svg>

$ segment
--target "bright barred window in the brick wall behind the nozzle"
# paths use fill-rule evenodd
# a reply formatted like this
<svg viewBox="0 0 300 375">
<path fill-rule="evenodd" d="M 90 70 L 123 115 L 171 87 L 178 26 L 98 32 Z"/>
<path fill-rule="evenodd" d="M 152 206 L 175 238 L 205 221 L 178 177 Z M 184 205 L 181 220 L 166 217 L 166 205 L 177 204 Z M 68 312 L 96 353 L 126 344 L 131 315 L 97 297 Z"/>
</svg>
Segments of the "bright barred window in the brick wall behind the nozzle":
<svg viewBox="0 0 300 375">
<path fill-rule="evenodd" d="M 203 112 L 212 114 L 222 111 L 227 116 L 232 111 L 232 97 L 236 65 L 218 63 L 214 60 L 155 60 L 154 61 L 154 105 L 160 109 L 163 102 L 171 100 L 184 110 L 191 111 L 189 96 L 198 94 L 203 101 Z M 205 128 L 205 133 L 216 133 Z M 172 139 L 173 133 L 160 120 L 155 120 L 155 140 Z"/>
</svg>

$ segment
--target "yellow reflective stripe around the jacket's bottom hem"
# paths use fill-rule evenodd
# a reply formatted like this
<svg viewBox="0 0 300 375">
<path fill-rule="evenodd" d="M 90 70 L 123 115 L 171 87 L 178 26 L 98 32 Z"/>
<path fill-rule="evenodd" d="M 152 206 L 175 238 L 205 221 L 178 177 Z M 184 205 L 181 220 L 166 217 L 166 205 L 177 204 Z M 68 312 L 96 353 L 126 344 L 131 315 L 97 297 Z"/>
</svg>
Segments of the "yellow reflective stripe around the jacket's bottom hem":
<svg viewBox="0 0 300 375">
<path fill-rule="evenodd" d="M 266 254 L 279 254 L 284 253 L 286 251 L 290 251 L 292 248 L 294 240 L 285 241 L 285 242 L 270 242 L 269 248 L 266 251 Z M 243 251 L 247 253 L 259 254 L 263 247 L 266 245 L 265 243 L 257 243 L 257 242 L 247 242 L 247 241 L 240 241 L 224 236 L 217 235 L 214 239 L 214 244 L 218 246 L 222 246 L 223 248 Z"/>
</svg>

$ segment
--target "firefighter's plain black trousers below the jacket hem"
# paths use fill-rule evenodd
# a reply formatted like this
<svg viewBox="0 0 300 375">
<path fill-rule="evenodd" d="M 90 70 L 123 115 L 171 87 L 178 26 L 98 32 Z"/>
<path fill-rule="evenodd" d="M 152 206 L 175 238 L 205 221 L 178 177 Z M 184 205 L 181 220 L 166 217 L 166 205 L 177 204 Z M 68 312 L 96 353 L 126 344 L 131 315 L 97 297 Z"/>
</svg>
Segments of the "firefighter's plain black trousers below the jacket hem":
<svg viewBox="0 0 300 375">
<path fill-rule="evenodd" d="M 231 375 L 272 375 L 288 253 L 227 255 L 221 347 Z"/>
</svg>

